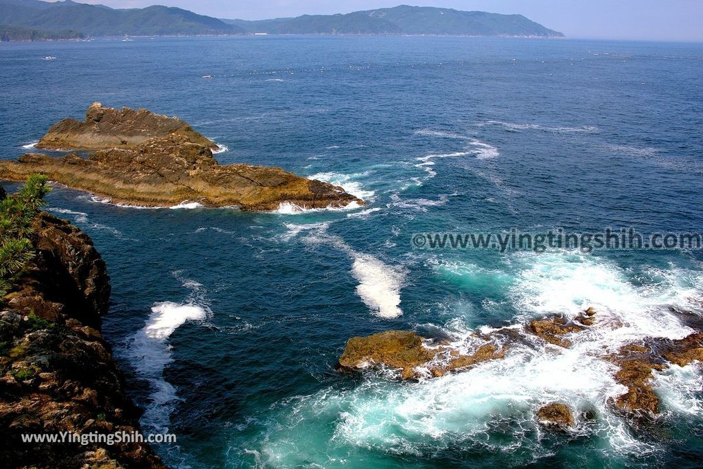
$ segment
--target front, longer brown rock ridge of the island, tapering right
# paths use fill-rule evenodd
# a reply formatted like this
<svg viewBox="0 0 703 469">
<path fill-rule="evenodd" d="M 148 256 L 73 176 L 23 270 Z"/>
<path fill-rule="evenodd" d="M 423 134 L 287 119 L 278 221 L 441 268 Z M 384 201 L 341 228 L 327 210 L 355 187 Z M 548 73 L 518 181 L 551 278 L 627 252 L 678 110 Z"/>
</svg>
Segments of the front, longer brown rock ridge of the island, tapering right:
<svg viewBox="0 0 703 469">
<path fill-rule="evenodd" d="M 188 201 L 244 210 L 276 210 L 281 203 L 307 208 L 363 205 L 340 187 L 280 168 L 219 165 L 209 148 L 176 135 L 133 148 L 98 150 L 87 159 L 75 153 L 63 158 L 30 153 L 17 162 L 0 161 L 0 179 L 24 181 L 36 172 L 126 205 L 164 207 Z"/>
</svg>

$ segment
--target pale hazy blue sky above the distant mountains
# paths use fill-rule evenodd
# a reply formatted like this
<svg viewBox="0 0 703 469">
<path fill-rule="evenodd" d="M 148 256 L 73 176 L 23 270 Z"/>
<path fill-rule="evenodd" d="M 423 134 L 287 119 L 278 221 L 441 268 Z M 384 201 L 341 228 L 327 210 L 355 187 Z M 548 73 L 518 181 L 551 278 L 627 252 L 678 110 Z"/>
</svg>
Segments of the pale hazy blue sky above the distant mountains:
<svg viewBox="0 0 703 469">
<path fill-rule="evenodd" d="M 256 20 L 349 13 L 399 4 L 522 13 L 573 38 L 703 41 L 703 0 L 77 0 L 112 8 L 162 4 L 217 18 Z"/>
</svg>

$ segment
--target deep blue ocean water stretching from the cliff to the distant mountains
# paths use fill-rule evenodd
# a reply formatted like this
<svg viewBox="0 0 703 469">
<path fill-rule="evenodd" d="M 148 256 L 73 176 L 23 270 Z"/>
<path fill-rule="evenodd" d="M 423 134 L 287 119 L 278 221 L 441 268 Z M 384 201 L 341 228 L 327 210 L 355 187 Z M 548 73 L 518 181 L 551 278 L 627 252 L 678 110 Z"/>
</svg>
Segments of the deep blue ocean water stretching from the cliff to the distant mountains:
<svg viewBox="0 0 703 469">
<path fill-rule="evenodd" d="M 226 148 L 222 163 L 284 167 L 368 203 L 243 213 L 49 195 L 108 263 L 105 335 L 144 429 L 178 437 L 157 446 L 169 465 L 700 465 L 699 365 L 657 374 L 662 415 L 638 428 L 608 406 L 624 388 L 596 357 L 700 324 L 699 251 L 419 250 L 412 236 L 702 231 L 701 44 L 3 43 L 0 83 L 0 158 L 101 101 L 178 115 Z M 516 345 L 415 383 L 335 370 L 353 335 L 413 329 L 460 349 L 477 330 L 589 306 L 602 320 L 570 349 Z M 574 430 L 540 428 L 534 412 L 553 401 L 574 409 Z"/>
</svg>

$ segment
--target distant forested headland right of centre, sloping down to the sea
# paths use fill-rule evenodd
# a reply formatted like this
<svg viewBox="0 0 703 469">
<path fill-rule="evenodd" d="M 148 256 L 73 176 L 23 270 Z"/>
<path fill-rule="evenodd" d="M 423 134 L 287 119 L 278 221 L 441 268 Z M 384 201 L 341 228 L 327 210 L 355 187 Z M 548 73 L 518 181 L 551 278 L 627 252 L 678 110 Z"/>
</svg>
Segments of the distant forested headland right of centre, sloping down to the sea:
<svg viewBox="0 0 703 469">
<path fill-rule="evenodd" d="M 457 34 L 564 37 L 522 15 L 401 5 L 346 15 L 303 15 L 276 20 L 223 20 L 247 32 L 269 34 Z"/>
</svg>

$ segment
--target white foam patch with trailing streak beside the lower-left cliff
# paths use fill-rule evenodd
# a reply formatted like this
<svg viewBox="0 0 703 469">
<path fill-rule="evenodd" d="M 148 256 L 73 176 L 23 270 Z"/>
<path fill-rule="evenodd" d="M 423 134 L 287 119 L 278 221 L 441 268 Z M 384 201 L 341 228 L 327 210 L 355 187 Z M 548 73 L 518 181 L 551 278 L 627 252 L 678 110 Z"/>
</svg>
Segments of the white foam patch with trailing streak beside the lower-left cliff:
<svg viewBox="0 0 703 469">
<path fill-rule="evenodd" d="M 179 273 L 174 274 L 178 276 Z M 202 296 L 202 285 L 186 278 L 181 278 L 181 281 L 184 288 L 191 290 L 188 300 L 184 303 L 154 304 L 145 326 L 131 338 L 127 350 L 134 368 L 151 386 L 150 403 L 141 423 L 158 432 L 167 432 L 169 415 L 177 401 L 175 388 L 163 376 L 165 367 L 172 362 L 168 339 L 183 323 L 202 321 L 209 311 Z"/>
</svg>

